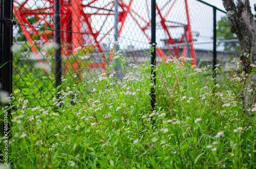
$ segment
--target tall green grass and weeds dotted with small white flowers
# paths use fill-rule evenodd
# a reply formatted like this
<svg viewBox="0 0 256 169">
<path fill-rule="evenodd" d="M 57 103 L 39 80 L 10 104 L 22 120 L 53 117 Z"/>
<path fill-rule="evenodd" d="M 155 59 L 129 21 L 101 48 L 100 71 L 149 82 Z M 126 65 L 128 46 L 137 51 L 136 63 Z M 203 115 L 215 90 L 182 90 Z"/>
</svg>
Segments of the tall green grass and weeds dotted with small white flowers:
<svg viewBox="0 0 256 169">
<path fill-rule="evenodd" d="M 120 55 L 123 81 L 108 67 L 90 79 L 67 77 L 53 93 L 27 93 L 54 106 L 29 108 L 13 93 L 13 168 L 255 168 L 255 113 L 244 113 L 245 84 L 233 71 L 214 80 L 212 67 L 161 63 L 152 112 L 151 66 L 124 62 Z"/>
</svg>

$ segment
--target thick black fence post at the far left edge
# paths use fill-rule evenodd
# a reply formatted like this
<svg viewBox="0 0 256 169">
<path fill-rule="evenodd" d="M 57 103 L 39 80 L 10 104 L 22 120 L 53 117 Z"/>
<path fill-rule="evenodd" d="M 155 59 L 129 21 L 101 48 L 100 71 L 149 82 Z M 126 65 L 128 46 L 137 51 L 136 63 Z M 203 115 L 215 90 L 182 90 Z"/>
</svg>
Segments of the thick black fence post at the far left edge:
<svg viewBox="0 0 256 169">
<path fill-rule="evenodd" d="M 0 41 L 1 41 L 1 49 L 0 49 L 0 81 L 2 84 L 2 90 L 7 91 L 9 94 L 12 93 L 12 24 L 15 24 L 15 21 L 13 21 L 13 6 L 12 1 L 9 0 L 1 0 L 1 18 L 0 18 Z M 2 95 L 3 96 L 3 95 Z M 0 96 L 1 97 L 1 96 Z M 3 99 L 3 98 L 2 98 Z M 5 99 L 5 98 L 4 98 Z M 1 103 L 1 108 L 5 106 L 3 103 Z M 10 104 L 8 104 L 10 106 Z M 9 140 L 11 139 L 12 133 L 11 131 L 11 109 L 8 111 L 5 111 L 4 114 L 1 115 L 1 118 L 3 117 L 3 121 L 1 122 L 1 137 L 5 138 L 4 144 L 8 144 Z M 4 153 L 5 156 L 2 157 L 3 160 L 6 163 L 8 162 L 8 155 L 11 153 L 11 147 L 6 146 L 4 150 L 1 150 L 1 153 Z M 9 152 L 9 153 L 7 153 Z M 7 158 L 6 158 L 7 154 Z M 6 161 L 7 160 L 7 161 Z"/>
</svg>

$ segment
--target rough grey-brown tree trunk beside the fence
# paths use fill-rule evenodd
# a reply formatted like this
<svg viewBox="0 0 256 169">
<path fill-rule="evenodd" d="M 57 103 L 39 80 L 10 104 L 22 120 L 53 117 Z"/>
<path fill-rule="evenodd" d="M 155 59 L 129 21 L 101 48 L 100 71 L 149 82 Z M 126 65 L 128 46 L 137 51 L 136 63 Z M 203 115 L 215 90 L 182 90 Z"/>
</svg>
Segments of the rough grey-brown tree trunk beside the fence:
<svg viewBox="0 0 256 169">
<path fill-rule="evenodd" d="M 238 36 L 242 61 L 242 69 L 246 77 L 246 84 L 248 84 L 247 92 L 243 91 L 242 98 L 244 99 L 244 109 L 251 108 L 255 104 L 256 97 L 253 96 L 256 89 L 256 75 L 248 77 L 250 74 L 250 64 L 255 64 L 256 61 L 256 22 L 251 13 L 249 0 L 222 0 L 223 5 L 227 11 L 227 19 L 230 25 L 230 30 Z M 251 49 L 252 50 L 251 52 Z M 249 55 L 251 54 L 251 55 Z M 248 90 L 252 89 L 253 92 Z M 246 111 L 246 110 L 245 110 Z"/>
</svg>

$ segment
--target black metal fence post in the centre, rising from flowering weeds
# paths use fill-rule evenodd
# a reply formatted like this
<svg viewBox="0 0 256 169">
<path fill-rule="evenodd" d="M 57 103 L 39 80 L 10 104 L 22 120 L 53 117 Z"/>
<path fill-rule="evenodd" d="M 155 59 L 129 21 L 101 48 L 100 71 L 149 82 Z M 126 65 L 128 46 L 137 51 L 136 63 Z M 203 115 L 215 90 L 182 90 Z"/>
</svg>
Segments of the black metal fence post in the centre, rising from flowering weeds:
<svg viewBox="0 0 256 169">
<path fill-rule="evenodd" d="M 152 75 L 152 82 L 153 85 L 151 87 L 151 107 L 154 110 L 155 109 L 155 103 L 156 103 L 156 91 L 155 91 L 155 85 L 156 85 L 156 71 L 154 71 L 156 66 L 156 0 L 152 0 L 151 4 L 151 44 L 152 47 L 154 47 L 154 51 L 151 53 L 151 64 L 154 65 L 151 67 L 151 75 Z"/>
</svg>

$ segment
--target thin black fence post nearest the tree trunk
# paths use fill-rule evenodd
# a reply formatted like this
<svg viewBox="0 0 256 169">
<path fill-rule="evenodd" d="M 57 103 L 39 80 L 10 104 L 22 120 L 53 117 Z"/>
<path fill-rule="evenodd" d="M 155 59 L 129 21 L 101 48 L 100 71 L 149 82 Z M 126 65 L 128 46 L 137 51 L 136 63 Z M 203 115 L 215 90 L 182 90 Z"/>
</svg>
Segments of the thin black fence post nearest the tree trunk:
<svg viewBox="0 0 256 169">
<path fill-rule="evenodd" d="M 216 78 L 216 71 L 215 71 L 215 66 L 217 64 L 217 21 L 216 21 L 216 11 L 217 8 L 216 7 L 212 7 L 214 10 L 214 49 L 213 49 L 213 56 L 212 56 L 212 71 L 213 71 L 213 75 L 212 78 Z"/>
</svg>

